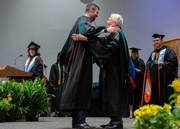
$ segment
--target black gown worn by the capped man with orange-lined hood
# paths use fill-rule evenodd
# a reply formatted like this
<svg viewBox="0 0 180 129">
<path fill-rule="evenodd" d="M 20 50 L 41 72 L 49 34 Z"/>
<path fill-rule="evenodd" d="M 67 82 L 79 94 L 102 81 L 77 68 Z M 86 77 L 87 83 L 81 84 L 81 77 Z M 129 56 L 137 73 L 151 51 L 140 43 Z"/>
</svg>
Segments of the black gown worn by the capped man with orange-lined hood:
<svg viewBox="0 0 180 129">
<path fill-rule="evenodd" d="M 152 61 L 152 53 L 147 62 Z M 178 61 L 174 50 L 170 47 L 166 48 L 164 56 L 164 66 L 160 69 L 160 100 L 158 94 L 158 79 L 156 87 L 153 89 L 152 99 L 150 103 L 163 106 L 164 103 L 170 103 L 169 97 L 174 93 L 174 89 L 169 87 L 174 78 L 178 77 Z M 144 102 L 144 104 L 146 104 Z"/>
</svg>

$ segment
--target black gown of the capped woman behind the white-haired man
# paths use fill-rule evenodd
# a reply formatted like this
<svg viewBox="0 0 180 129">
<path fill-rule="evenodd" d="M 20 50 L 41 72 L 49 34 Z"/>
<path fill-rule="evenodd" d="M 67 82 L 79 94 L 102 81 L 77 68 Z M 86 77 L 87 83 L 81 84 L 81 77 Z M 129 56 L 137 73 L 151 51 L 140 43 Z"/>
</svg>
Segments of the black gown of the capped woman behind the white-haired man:
<svg viewBox="0 0 180 129">
<path fill-rule="evenodd" d="M 141 70 L 141 72 L 136 72 L 136 76 L 134 79 L 134 82 L 136 84 L 136 89 L 134 90 L 133 96 L 134 96 L 134 110 L 136 110 L 141 105 L 141 100 L 142 100 L 145 63 L 141 58 L 139 58 L 139 60 L 133 61 L 133 64 L 135 68 Z"/>
</svg>

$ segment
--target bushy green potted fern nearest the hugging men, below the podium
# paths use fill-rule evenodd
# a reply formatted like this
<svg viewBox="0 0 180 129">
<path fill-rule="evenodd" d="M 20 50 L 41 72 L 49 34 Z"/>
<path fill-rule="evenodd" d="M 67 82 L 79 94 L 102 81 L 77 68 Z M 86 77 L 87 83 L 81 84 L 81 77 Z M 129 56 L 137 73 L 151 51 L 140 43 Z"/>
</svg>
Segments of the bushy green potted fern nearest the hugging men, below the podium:
<svg viewBox="0 0 180 129">
<path fill-rule="evenodd" d="M 43 79 L 35 79 L 34 81 L 23 81 L 24 96 L 23 105 L 28 107 L 26 115 L 27 121 L 38 121 L 39 114 L 50 112 L 47 106 L 47 89 L 44 88 Z"/>
</svg>

